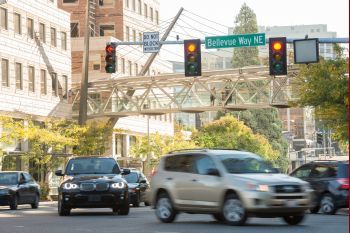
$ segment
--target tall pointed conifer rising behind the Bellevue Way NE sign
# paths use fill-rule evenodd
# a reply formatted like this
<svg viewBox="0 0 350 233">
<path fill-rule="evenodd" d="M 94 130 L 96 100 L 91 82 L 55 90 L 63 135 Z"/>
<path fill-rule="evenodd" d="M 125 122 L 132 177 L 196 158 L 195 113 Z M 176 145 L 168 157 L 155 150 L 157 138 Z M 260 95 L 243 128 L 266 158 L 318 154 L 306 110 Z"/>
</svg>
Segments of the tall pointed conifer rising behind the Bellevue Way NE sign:
<svg viewBox="0 0 350 233">
<path fill-rule="evenodd" d="M 250 34 L 258 32 L 258 24 L 254 11 L 243 4 L 235 18 L 234 34 Z M 237 48 L 233 50 L 232 66 L 241 68 L 249 65 L 260 65 L 257 47 Z"/>
</svg>

